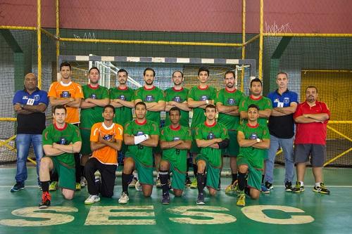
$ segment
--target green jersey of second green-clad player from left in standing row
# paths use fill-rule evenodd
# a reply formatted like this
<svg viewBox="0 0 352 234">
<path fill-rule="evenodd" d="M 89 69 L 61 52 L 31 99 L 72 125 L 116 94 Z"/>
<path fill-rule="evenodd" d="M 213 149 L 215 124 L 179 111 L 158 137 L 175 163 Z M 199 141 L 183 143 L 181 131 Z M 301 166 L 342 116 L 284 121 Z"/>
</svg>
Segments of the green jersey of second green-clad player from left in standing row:
<svg viewBox="0 0 352 234">
<path fill-rule="evenodd" d="M 110 99 L 121 99 L 132 101 L 134 100 L 134 90 L 127 87 L 126 89 L 120 89 L 119 87 L 114 87 L 109 89 Z M 127 122 L 132 120 L 132 108 L 127 108 L 122 106 L 120 108 L 115 108 L 115 118 L 113 122 L 121 124 L 124 126 Z"/>
</svg>

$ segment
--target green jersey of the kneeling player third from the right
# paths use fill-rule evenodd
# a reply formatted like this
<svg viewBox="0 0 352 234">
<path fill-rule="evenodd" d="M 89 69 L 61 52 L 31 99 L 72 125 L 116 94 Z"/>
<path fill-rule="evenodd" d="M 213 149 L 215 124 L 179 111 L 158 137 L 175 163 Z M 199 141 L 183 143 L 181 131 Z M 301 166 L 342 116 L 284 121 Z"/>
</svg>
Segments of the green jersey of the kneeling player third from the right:
<svg viewBox="0 0 352 234">
<path fill-rule="evenodd" d="M 187 126 L 180 125 L 176 129 L 172 129 L 172 126 L 165 126 L 161 129 L 161 141 L 192 141 L 191 129 Z M 181 172 L 187 171 L 187 151 L 178 149 L 167 149 L 163 150 L 163 160 L 173 162 L 177 169 Z"/>
</svg>

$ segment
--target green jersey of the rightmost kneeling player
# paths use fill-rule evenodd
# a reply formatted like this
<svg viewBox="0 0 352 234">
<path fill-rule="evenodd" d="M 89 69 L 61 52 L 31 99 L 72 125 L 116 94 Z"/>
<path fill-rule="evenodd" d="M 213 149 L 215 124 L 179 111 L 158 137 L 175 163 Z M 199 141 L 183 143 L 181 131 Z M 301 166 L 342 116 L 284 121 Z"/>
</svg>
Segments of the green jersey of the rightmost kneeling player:
<svg viewBox="0 0 352 234">
<path fill-rule="evenodd" d="M 256 126 L 249 126 L 247 123 L 241 124 L 237 131 L 244 133 L 246 140 L 270 139 L 268 126 L 266 124 L 257 124 Z M 251 165 L 256 169 L 263 169 L 263 161 L 266 149 L 258 149 L 249 147 L 240 147 L 238 157 L 246 157 Z"/>
</svg>

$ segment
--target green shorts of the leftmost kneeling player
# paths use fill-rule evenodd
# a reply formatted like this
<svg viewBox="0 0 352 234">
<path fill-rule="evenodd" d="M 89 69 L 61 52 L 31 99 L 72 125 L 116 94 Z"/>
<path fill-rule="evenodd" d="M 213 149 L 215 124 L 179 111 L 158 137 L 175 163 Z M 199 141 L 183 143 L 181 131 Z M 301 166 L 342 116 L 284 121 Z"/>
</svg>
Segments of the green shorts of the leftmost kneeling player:
<svg viewBox="0 0 352 234">
<path fill-rule="evenodd" d="M 48 156 L 45 156 L 48 157 Z M 57 157 L 49 157 L 54 164 L 53 172 L 58 174 L 58 186 L 76 190 L 76 169 L 75 166 L 67 167 L 62 162 L 58 161 Z"/>
</svg>

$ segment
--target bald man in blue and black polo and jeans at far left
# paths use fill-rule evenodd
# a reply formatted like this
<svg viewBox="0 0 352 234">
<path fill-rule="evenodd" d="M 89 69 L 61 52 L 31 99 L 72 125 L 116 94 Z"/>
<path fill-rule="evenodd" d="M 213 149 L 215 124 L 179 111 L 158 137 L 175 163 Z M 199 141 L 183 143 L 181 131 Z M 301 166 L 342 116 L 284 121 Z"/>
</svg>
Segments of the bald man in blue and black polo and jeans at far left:
<svg viewBox="0 0 352 234">
<path fill-rule="evenodd" d="M 17 114 L 17 172 L 15 186 L 11 192 L 25 188 L 27 179 L 27 157 L 30 145 L 33 145 L 37 161 L 38 185 L 40 160 L 43 157 L 42 131 L 45 129 L 45 110 L 48 106 L 48 93 L 39 90 L 38 79 L 33 73 L 25 75 L 25 89 L 19 90 L 13 97 L 13 109 Z"/>
</svg>

